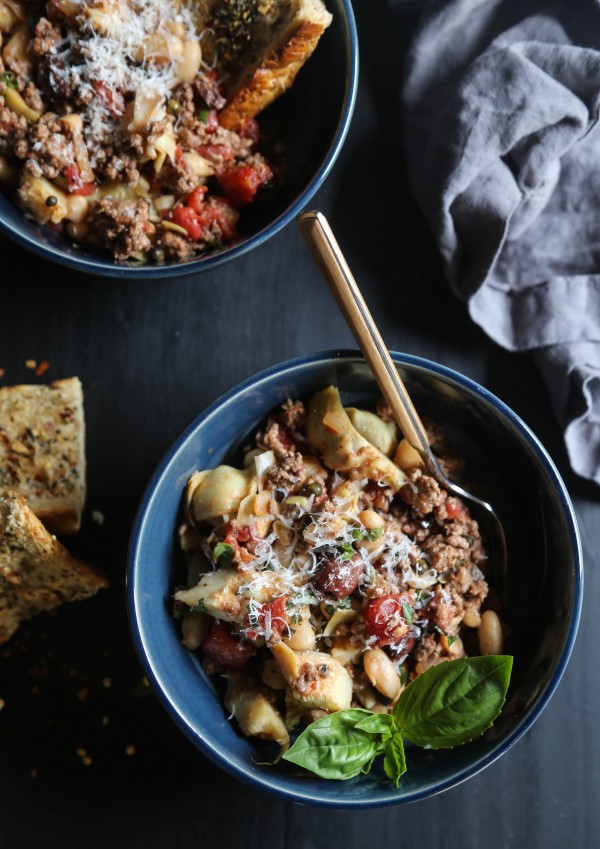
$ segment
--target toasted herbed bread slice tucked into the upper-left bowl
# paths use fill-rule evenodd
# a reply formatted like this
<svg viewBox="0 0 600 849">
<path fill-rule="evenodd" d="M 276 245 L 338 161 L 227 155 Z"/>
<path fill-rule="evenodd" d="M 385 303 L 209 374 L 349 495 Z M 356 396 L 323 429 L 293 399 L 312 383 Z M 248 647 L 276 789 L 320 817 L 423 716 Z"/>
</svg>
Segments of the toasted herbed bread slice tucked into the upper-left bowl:
<svg viewBox="0 0 600 849">
<path fill-rule="evenodd" d="M 212 52 L 227 100 L 219 121 L 238 130 L 292 85 L 332 16 L 321 0 L 208 5 L 203 52 Z"/>
</svg>

